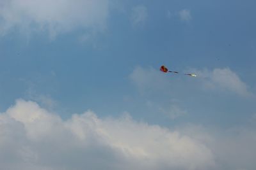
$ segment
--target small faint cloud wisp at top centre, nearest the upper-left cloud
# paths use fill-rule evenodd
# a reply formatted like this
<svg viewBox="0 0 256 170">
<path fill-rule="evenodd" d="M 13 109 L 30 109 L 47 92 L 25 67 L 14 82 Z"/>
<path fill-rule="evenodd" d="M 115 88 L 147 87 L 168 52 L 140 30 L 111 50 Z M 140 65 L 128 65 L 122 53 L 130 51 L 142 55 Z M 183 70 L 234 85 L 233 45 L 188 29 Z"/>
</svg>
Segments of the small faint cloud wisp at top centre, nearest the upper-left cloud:
<svg viewBox="0 0 256 170">
<path fill-rule="evenodd" d="M 132 8 L 131 20 L 134 26 L 143 26 L 148 18 L 146 6 L 138 5 Z"/>
</svg>

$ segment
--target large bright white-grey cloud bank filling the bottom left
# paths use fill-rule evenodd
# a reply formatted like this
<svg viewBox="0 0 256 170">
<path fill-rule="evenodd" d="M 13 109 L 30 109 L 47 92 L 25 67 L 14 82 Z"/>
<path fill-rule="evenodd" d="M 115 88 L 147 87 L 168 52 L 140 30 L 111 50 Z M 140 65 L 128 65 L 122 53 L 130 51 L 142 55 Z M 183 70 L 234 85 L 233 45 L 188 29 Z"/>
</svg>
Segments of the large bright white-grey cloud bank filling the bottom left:
<svg viewBox="0 0 256 170">
<path fill-rule="evenodd" d="M 188 135 L 92 111 L 68 120 L 32 101 L 0 114 L 3 169 L 208 169 L 212 151 Z"/>
</svg>

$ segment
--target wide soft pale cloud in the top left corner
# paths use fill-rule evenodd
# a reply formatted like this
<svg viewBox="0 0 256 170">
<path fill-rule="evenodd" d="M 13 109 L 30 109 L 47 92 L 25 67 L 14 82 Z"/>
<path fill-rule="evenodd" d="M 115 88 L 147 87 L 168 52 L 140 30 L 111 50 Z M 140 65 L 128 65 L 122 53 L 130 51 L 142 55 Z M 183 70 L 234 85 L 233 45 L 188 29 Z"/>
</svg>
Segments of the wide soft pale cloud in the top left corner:
<svg viewBox="0 0 256 170">
<path fill-rule="evenodd" d="M 108 0 L 3 0 L 0 34 L 47 31 L 51 37 L 74 29 L 102 31 L 109 13 Z"/>
</svg>

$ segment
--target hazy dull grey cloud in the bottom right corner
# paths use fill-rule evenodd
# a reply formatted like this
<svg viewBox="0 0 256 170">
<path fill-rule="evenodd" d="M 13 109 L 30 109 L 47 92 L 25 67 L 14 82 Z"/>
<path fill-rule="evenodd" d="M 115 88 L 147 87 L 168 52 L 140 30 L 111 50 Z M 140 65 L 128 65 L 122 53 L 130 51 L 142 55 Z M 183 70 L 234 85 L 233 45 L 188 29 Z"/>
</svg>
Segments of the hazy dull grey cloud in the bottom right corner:
<svg viewBox="0 0 256 170">
<path fill-rule="evenodd" d="M 215 154 L 226 169 L 255 169 L 255 128 L 236 127 L 216 136 Z M 229 167 L 229 168 L 227 168 Z"/>
</svg>

